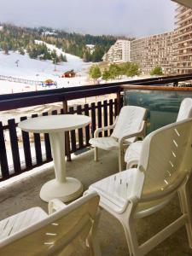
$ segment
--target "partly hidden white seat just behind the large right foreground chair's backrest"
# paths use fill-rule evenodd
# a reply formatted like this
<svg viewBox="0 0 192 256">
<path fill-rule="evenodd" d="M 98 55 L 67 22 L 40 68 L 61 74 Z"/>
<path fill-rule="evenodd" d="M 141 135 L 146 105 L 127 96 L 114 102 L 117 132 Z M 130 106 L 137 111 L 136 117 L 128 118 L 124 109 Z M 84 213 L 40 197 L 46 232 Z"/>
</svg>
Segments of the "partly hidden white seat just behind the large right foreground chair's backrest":
<svg viewBox="0 0 192 256">
<path fill-rule="evenodd" d="M 126 149 L 125 152 L 125 162 L 132 163 L 133 165 L 138 164 L 138 160 L 142 151 L 143 141 L 137 141 L 136 143 L 131 143 L 131 145 Z"/>
</svg>

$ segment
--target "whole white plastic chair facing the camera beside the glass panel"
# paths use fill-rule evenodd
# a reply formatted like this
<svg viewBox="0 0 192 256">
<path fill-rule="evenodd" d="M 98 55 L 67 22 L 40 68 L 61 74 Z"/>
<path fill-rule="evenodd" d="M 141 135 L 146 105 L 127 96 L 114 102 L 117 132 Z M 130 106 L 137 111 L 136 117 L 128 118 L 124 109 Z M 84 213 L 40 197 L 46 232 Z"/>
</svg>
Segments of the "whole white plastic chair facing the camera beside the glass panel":
<svg viewBox="0 0 192 256">
<path fill-rule="evenodd" d="M 143 137 L 145 131 L 146 108 L 125 106 L 113 125 L 96 129 L 90 144 L 95 148 L 95 160 L 98 160 L 98 148 L 104 150 L 119 149 L 119 172 L 124 162 L 124 146 L 134 143 L 137 137 Z M 99 132 L 113 129 L 110 137 L 98 137 Z"/>
</svg>

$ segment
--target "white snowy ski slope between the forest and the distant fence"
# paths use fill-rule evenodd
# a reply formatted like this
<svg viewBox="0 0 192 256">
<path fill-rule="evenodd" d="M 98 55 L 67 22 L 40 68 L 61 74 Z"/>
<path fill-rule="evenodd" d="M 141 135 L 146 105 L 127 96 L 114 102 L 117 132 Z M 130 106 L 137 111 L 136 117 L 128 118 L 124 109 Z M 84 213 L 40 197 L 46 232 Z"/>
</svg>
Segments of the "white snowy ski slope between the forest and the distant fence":
<svg viewBox="0 0 192 256">
<path fill-rule="evenodd" d="M 41 41 L 37 41 L 41 44 Z M 60 55 L 65 54 L 61 49 L 57 49 L 54 45 L 47 44 L 49 49 L 55 49 Z M 3 51 L 0 51 L 0 75 L 16 76 L 26 79 L 35 79 L 38 77 L 59 77 L 67 70 L 74 69 L 76 72 L 82 73 L 86 67 L 89 67 L 89 63 L 84 63 L 79 57 L 66 54 L 67 62 L 61 62 L 61 64 L 55 65 L 52 61 L 38 61 L 30 59 L 29 56 L 20 55 L 15 52 L 10 52 L 9 55 L 4 55 Z M 18 61 L 18 67 L 16 65 Z"/>
</svg>

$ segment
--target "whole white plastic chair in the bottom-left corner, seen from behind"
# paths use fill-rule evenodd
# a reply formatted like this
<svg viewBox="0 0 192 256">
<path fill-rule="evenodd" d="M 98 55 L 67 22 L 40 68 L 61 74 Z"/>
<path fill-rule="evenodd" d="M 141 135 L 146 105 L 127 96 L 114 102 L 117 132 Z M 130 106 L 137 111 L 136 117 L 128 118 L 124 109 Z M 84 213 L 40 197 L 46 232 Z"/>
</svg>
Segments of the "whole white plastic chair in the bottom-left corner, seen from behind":
<svg viewBox="0 0 192 256">
<path fill-rule="evenodd" d="M 87 239 L 90 255 L 101 256 L 96 239 L 96 193 L 85 195 L 66 206 L 49 202 L 48 215 L 33 207 L 0 222 L 0 255 L 69 256 Z M 56 210 L 56 212 L 54 212 Z"/>
</svg>

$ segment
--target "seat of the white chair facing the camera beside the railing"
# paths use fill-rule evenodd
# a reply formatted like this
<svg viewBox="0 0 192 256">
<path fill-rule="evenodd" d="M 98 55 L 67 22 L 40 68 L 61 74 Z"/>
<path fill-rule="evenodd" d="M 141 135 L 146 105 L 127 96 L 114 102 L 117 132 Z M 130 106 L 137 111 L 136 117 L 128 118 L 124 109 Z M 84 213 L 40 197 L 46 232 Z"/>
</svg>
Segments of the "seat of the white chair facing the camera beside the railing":
<svg viewBox="0 0 192 256">
<path fill-rule="evenodd" d="M 118 142 L 114 137 L 91 138 L 89 143 L 93 147 L 102 148 L 104 150 L 112 150 L 118 148 Z"/>
</svg>

